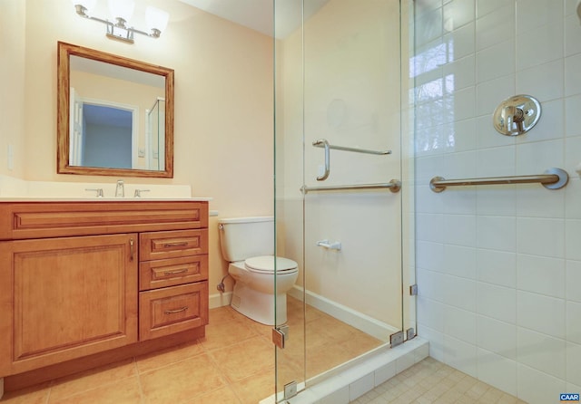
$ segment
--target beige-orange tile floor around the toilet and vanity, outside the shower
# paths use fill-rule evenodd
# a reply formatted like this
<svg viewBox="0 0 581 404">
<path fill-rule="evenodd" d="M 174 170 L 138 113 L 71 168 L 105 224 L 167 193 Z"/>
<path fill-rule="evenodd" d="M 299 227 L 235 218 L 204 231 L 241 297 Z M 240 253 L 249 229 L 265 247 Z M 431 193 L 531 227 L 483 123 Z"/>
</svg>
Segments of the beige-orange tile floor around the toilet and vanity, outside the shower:
<svg viewBox="0 0 581 404">
<path fill-rule="evenodd" d="M 292 298 L 288 317 L 294 332 L 280 351 L 281 382 L 304 378 L 304 338 L 296 332 L 304 313 Z M 255 404 L 274 393 L 271 328 L 229 306 L 212 309 L 204 339 L 6 392 L 0 404 Z M 307 328 L 313 335 L 308 377 L 382 343 L 310 307 Z"/>
</svg>

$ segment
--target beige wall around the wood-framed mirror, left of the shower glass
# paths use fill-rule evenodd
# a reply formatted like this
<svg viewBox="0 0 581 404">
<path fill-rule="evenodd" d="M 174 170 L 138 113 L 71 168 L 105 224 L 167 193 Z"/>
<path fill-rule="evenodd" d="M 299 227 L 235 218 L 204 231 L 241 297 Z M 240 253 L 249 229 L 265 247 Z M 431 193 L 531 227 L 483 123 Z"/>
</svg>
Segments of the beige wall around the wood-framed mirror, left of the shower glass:
<svg viewBox="0 0 581 404">
<path fill-rule="evenodd" d="M 2 97 L 0 174 L 117 179 L 56 174 L 56 43 L 63 41 L 175 71 L 174 178 L 124 178 L 126 183 L 188 184 L 193 196 L 212 197 L 210 208 L 220 216 L 271 215 L 271 38 L 173 0 L 140 0 L 134 14 L 144 15 L 145 5 L 168 11 L 170 23 L 161 38 L 136 34 L 132 45 L 107 39 L 105 26 L 80 18 L 70 0 L 3 0 L 1 29 L 8 33 L 0 52 L 4 76 L 11 79 L 2 93 L 12 98 Z M 133 24 L 144 27 L 143 19 Z M 5 163 L 8 142 L 15 145 L 13 171 Z M 226 274 L 216 226 L 212 217 L 211 291 Z"/>
</svg>

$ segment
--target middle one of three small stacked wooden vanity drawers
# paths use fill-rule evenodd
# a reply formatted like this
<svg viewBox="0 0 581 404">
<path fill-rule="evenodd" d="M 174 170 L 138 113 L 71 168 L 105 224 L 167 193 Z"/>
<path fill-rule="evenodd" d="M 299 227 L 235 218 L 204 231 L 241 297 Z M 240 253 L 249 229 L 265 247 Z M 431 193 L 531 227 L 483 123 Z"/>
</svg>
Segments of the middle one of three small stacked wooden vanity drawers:
<svg viewBox="0 0 581 404">
<path fill-rule="evenodd" d="M 139 290 L 147 291 L 208 279 L 208 255 L 145 261 L 139 265 Z"/>
</svg>

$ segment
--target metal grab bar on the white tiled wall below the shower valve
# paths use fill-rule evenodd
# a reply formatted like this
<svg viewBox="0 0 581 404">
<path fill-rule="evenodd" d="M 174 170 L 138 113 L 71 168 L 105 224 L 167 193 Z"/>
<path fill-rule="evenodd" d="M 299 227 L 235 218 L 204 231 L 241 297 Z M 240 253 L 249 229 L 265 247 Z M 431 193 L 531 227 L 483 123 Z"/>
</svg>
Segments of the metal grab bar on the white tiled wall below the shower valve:
<svg viewBox="0 0 581 404">
<path fill-rule="evenodd" d="M 446 179 L 434 177 L 429 181 L 429 188 L 434 192 L 442 192 L 446 187 L 462 187 L 470 185 L 497 185 L 497 184 L 531 184 L 540 183 L 547 189 L 559 189 L 566 186 L 569 175 L 562 168 L 548 168 L 543 174 L 536 176 L 491 177 Z"/>
</svg>

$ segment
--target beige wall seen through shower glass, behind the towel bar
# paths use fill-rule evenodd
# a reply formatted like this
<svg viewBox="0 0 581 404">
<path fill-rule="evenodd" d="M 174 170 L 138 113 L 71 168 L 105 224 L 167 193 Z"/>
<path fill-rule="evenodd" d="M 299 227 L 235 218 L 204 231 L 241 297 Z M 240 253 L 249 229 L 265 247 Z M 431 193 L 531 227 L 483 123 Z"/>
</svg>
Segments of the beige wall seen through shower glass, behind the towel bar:
<svg viewBox="0 0 581 404">
<path fill-rule="evenodd" d="M 303 181 L 401 179 L 399 2 L 331 0 L 301 34 L 277 43 L 279 255 L 301 264 L 297 284 L 308 291 L 399 328 L 402 193 L 313 192 L 304 203 L 300 193 Z M 320 182 L 324 152 L 311 146 L 320 138 L 392 153 L 330 150 L 330 177 Z M 342 250 L 317 246 L 323 239 L 340 241 Z"/>
</svg>

